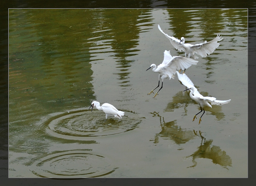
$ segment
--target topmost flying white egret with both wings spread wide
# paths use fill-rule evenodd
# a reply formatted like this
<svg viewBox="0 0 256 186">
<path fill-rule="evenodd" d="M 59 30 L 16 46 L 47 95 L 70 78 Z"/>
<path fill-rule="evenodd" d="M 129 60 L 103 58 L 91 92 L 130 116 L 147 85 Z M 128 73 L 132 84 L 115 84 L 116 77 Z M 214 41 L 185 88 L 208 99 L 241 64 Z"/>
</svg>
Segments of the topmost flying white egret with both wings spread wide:
<svg viewBox="0 0 256 186">
<path fill-rule="evenodd" d="M 192 45 L 189 43 L 185 43 L 184 37 L 181 37 L 179 40 L 173 36 L 169 36 L 168 34 L 164 33 L 159 25 L 158 29 L 170 40 L 171 44 L 174 48 L 176 48 L 176 50 L 184 51 L 185 57 L 188 56 L 188 58 L 192 59 L 198 58 L 196 55 L 194 55 L 194 53 L 202 57 L 206 57 L 207 55 L 212 54 L 214 50 L 220 46 L 220 43 L 218 43 L 218 41 L 221 41 L 223 39 L 220 35 L 217 34 L 217 37 L 214 38 L 212 41 L 204 41 L 203 43 Z"/>
</svg>

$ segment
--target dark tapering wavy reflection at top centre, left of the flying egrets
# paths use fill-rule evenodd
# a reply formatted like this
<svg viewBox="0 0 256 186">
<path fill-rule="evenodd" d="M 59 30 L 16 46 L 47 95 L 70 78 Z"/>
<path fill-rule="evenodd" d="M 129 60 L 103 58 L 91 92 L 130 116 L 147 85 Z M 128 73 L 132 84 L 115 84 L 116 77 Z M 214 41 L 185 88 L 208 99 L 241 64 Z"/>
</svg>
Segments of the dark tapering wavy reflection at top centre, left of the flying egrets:
<svg viewBox="0 0 256 186">
<path fill-rule="evenodd" d="M 124 9 L 120 11 L 118 9 L 96 9 L 94 11 L 95 18 L 97 18 L 94 18 L 95 24 L 97 25 L 102 20 L 103 22 L 101 22 L 100 29 L 97 29 L 93 37 L 104 41 L 104 45 L 108 45 L 110 48 L 108 49 L 109 55 L 116 61 L 117 68 L 113 74 L 118 76 L 117 79 L 120 80 L 119 86 L 131 86 L 129 78 L 134 60 L 129 60 L 128 58 L 138 55 L 140 50 L 137 49 L 137 46 L 139 45 L 140 32 L 142 30 L 140 26 L 152 26 L 152 23 L 149 23 L 152 20 L 150 13 L 152 10 Z M 100 16 L 98 16 L 99 12 L 101 13 Z M 106 30 L 105 38 L 101 38 L 102 33 L 99 32 L 100 30 Z M 98 43 L 97 46 L 99 46 Z"/>
</svg>

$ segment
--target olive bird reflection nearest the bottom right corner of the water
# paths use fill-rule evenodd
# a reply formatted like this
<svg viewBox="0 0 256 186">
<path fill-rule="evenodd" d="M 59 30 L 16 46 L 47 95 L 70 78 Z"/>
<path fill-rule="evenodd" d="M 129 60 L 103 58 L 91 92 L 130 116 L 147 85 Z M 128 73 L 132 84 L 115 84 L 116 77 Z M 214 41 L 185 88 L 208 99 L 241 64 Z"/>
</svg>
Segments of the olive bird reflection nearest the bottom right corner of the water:
<svg viewBox="0 0 256 186">
<path fill-rule="evenodd" d="M 209 139 L 209 140 L 205 140 L 204 143 L 201 142 L 201 145 L 197 147 L 198 150 L 195 153 L 186 157 L 186 158 L 192 157 L 192 162 L 194 163 L 194 165 L 190 167 L 196 167 L 197 158 L 210 159 L 212 160 L 212 163 L 219 164 L 220 166 L 227 169 L 228 169 L 227 166 L 231 167 L 232 160 L 230 156 L 228 156 L 225 151 L 222 151 L 219 146 L 212 145 L 212 141 L 213 141 L 212 139 Z"/>
</svg>

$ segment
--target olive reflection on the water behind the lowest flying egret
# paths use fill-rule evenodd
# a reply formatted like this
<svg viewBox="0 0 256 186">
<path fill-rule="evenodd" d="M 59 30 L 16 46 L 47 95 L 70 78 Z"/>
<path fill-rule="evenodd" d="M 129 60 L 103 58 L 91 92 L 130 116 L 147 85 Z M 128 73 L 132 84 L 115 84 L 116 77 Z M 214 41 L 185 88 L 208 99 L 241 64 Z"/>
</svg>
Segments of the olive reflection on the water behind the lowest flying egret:
<svg viewBox="0 0 256 186">
<path fill-rule="evenodd" d="M 196 88 L 198 88 L 196 86 Z M 184 90 L 185 90 L 185 86 L 184 86 Z M 200 92 L 203 96 L 209 96 L 207 92 Z M 185 95 L 184 95 L 185 94 Z M 211 95 L 210 95 L 211 96 Z M 183 91 L 180 91 L 178 93 L 176 93 L 173 97 L 172 97 L 172 102 L 168 103 L 166 108 L 164 109 L 164 111 L 166 112 L 173 112 L 175 109 L 178 109 L 178 108 L 184 108 L 184 115 L 187 115 L 187 107 L 188 105 L 192 104 L 192 103 L 195 103 L 195 107 L 197 107 L 197 110 L 200 111 L 200 107 L 199 105 L 196 103 L 196 101 L 192 100 L 189 96 L 189 91 L 186 91 L 186 92 L 183 92 Z M 212 108 L 210 107 L 204 107 L 204 110 L 205 112 L 209 113 L 211 115 L 215 115 L 217 120 L 221 120 L 225 117 L 224 113 L 221 112 L 222 111 L 222 107 L 220 105 L 212 105 Z M 189 116 L 191 116 L 192 118 L 194 117 L 193 114 L 196 114 L 197 111 L 196 109 L 193 109 L 193 110 L 189 110 Z M 205 116 L 204 116 L 205 117 Z M 191 119 L 192 121 L 192 119 Z"/>
</svg>

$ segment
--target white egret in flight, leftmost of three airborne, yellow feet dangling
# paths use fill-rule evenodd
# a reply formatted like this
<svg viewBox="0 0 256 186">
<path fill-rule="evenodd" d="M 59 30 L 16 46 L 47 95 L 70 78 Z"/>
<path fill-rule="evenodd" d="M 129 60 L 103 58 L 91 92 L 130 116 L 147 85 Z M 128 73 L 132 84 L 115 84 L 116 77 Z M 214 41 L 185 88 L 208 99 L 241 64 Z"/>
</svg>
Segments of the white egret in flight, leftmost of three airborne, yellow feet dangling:
<svg viewBox="0 0 256 186">
<path fill-rule="evenodd" d="M 173 56 L 172 57 L 171 54 L 170 54 L 170 50 L 169 51 L 165 50 L 164 51 L 164 60 L 163 60 L 163 62 L 161 64 L 159 64 L 157 66 L 157 68 L 156 68 L 155 64 L 151 64 L 150 67 L 148 68 L 148 69 L 150 69 L 150 68 L 153 67 L 152 71 L 159 73 L 158 86 L 157 87 L 159 87 L 160 79 L 162 79 L 162 86 L 157 91 L 157 93 L 163 88 L 163 81 L 164 81 L 165 78 L 170 78 L 171 79 L 171 78 L 173 78 L 173 75 L 175 74 L 175 71 L 177 69 L 184 70 L 184 69 L 187 69 L 188 67 L 190 67 L 192 64 L 196 64 L 196 63 L 198 63 L 198 61 L 195 61 L 191 58 L 182 57 L 182 56 Z M 154 88 L 150 93 L 148 93 L 148 95 L 153 93 L 153 91 L 156 88 Z M 157 93 L 155 94 L 155 96 L 153 98 L 156 97 Z"/>
</svg>

